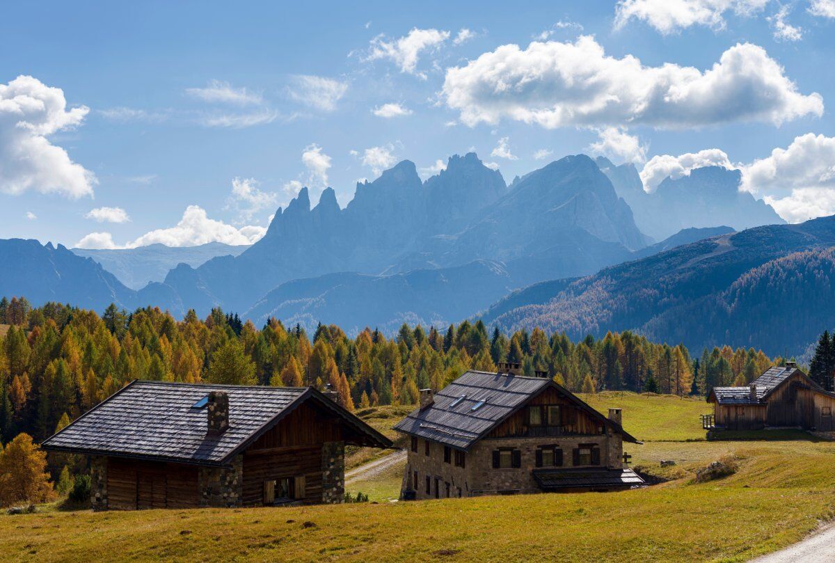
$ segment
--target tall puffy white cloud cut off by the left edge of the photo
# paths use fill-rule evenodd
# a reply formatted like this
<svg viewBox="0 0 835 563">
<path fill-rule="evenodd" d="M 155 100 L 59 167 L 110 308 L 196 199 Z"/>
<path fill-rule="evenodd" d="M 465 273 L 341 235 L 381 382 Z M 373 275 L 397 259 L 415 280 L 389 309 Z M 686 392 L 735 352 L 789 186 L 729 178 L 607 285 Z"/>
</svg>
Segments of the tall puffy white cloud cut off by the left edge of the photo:
<svg viewBox="0 0 835 563">
<path fill-rule="evenodd" d="M 81 124 L 88 112 L 86 106 L 67 109 L 62 89 L 31 76 L 0 84 L 0 191 L 92 197 L 98 183 L 93 172 L 48 140 Z"/>
</svg>

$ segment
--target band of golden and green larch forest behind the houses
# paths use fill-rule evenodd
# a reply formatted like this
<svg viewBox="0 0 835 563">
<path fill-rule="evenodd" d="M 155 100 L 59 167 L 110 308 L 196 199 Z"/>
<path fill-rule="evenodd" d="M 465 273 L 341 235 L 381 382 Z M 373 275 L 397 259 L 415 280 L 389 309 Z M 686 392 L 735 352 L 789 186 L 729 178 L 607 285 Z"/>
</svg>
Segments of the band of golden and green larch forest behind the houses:
<svg viewBox="0 0 835 563">
<path fill-rule="evenodd" d="M 413 404 L 418 388 L 443 388 L 467 369 L 495 371 L 520 362 L 574 391 L 631 389 L 705 393 L 746 383 L 772 365 L 754 349 L 650 342 L 632 332 L 572 342 L 539 328 L 510 337 L 481 322 L 449 327 L 403 325 L 397 337 L 365 329 L 349 338 L 320 326 L 312 335 L 271 319 L 260 329 L 215 309 L 176 321 L 159 309 L 95 312 L 25 299 L 0 301 L 0 432 L 41 440 L 133 379 L 246 385 L 330 385 L 347 408 Z M 696 361 L 696 356 L 700 358 Z M 775 360 L 780 361 L 780 360 Z M 694 380 L 696 384 L 694 386 Z"/>
</svg>

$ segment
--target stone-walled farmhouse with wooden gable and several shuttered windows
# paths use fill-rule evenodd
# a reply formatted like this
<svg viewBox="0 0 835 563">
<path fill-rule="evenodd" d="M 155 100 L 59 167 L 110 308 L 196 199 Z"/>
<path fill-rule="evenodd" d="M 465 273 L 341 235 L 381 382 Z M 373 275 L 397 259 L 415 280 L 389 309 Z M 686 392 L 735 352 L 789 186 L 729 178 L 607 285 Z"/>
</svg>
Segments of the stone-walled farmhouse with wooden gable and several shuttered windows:
<svg viewBox="0 0 835 563">
<path fill-rule="evenodd" d="M 499 369 L 518 373 L 518 364 Z M 402 498 L 630 489 L 620 425 L 546 377 L 468 371 L 394 429 L 407 434 Z"/>
</svg>

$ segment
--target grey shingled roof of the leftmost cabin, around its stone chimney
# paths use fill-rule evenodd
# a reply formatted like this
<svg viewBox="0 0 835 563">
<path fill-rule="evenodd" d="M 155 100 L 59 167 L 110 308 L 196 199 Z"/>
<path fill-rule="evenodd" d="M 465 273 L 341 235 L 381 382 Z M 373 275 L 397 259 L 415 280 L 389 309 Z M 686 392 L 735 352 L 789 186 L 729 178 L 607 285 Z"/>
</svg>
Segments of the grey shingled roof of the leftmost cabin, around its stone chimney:
<svg viewBox="0 0 835 563">
<path fill-rule="evenodd" d="M 195 403 L 213 390 L 229 396 L 229 429 L 223 434 L 208 433 L 205 408 L 195 408 Z M 228 465 L 235 454 L 307 400 L 341 417 L 362 436 L 363 445 L 392 446 L 391 440 L 314 388 L 139 380 L 46 439 L 42 446 L 78 454 Z"/>
</svg>

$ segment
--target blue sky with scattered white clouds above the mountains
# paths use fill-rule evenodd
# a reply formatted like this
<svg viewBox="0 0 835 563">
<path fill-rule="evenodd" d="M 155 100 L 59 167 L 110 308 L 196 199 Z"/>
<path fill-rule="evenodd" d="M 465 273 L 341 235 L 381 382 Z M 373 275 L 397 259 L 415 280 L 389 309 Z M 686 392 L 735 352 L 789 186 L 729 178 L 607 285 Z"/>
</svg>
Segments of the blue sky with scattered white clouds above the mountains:
<svg viewBox="0 0 835 563">
<path fill-rule="evenodd" d="M 835 0 L 8 3 L 0 237 L 246 244 L 302 186 L 475 151 L 645 190 L 703 165 L 835 214 Z"/>
</svg>

